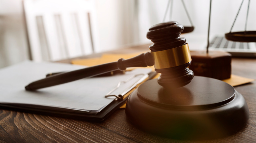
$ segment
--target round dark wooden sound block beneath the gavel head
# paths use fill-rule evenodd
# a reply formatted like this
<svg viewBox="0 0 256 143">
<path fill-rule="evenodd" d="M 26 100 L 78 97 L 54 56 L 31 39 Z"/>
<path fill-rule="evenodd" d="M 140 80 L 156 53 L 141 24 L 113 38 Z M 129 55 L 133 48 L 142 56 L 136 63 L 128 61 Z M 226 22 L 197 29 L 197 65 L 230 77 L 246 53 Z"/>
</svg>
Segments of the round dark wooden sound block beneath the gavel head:
<svg viewBox="0 0 256 143">
<path fill-rule="evenodd" d="M 129 96 L 125 112 L 140 129 L 176 139 L 223 137 L 249 119 L 239 92 L 223 81 L 202 76 L 169 90 L 158 85 L 157 79 L 149 80 Z"/>
</svg>

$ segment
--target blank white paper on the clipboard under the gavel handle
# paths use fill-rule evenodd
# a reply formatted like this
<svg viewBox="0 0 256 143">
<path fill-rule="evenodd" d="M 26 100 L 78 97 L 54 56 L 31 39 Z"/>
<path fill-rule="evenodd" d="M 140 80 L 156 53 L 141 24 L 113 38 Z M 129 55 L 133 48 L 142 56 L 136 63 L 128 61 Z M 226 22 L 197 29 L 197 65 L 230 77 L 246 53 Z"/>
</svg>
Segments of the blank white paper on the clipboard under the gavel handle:
<svg viewBox="0 0 256 143">
<path fill-rule="evenodd" d="M 136 69 L 126 71 L 125 74 L 115 76 L 93 77 L 74 82 L 26 91 L 25 86 L 29 83 L 45 78 L 49 72 L 71 71 L 85 68 L 62 63 L 35 63 L 25 61 L 20 64 L 0 69 L 0 103 L 19 104 L 19 106 L 44 105 L 61 107 L 66 109 L 95 111 L 111 103 L 115 98 L 105 98 L 105 95 L 115 88 L 120 81 L 129 77 L 144 73 L 151 69 Z M 125 90 L 138 82 L 143 75 L 136 76 L 124 85 L 113 91 L 110 95 L 123 94 Z M 34 106 L 33 106 L 34 107 Z"/>
</svg>

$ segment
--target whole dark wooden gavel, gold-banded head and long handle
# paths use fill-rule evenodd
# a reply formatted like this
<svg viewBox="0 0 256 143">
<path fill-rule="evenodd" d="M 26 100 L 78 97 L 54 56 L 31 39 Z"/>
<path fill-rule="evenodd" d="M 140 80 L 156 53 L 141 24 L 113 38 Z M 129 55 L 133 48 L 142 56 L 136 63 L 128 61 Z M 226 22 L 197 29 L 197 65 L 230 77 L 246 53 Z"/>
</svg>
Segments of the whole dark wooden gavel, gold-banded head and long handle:
<svg viewBox="0 0 256 143">
<path fill-rule="evenodd" d="M 120 58 L 117 62 L 92 66 L 80 70 L 65 72 L 30 83 L 26 90 L 36 90 L 90 78 L 114 70 L 126 70 L 129 67 L 155 67 L 161 73 L 158 84 L 164 88 L 183 87 L 191 82 L 193 71 L 187 67 L 191 56 L 185 38 L 181 38 L 183 26 L 176 21 L 160 23 L 149 28 L 147 38 L 153 42 L 151 52 L 142 53 L 130 59 Z"/>
</svg>

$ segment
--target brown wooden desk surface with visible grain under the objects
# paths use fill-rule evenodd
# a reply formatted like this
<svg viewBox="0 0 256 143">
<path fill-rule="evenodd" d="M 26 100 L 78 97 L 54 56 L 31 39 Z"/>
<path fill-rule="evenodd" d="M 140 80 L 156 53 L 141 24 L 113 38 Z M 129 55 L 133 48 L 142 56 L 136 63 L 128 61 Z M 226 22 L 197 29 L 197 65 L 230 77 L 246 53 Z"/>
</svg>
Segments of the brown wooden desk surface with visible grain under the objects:
<svg viewBox="0 0 256 143">
<path fill-rule="evenodd" d="M 147 49 L 148 45 L 142 45 L 115 52 L 131 53 Z M 232 58 L 232 74 L 256 79 L 256 59 Z M 124 109 L 118 109 L 103 122 L 57 118 L 0 109 L 0 142 L 255 142 L 256 82 L 238 86 L 235 89 L 245 97 L 250 118 L 245 128 L 238 133 L 216 140 L 180 141 L 142 132 L 126 119 Z"/>
</svg>

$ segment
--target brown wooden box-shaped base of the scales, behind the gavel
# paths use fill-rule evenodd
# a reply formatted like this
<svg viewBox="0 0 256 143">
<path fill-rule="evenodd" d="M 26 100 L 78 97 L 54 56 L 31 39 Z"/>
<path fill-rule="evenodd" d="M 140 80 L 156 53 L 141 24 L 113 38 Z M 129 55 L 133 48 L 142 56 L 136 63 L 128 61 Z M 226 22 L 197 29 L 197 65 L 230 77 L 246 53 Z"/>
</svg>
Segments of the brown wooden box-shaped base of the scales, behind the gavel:
<svg viewBox="0 0 256 143">
<path fill-rule="evenodd" d="M 191 51 L 192 62 L 189 66 L 194 75 L 227 79 L 231 75 L 231 54 L 221 51 Z"/>
</svg>

